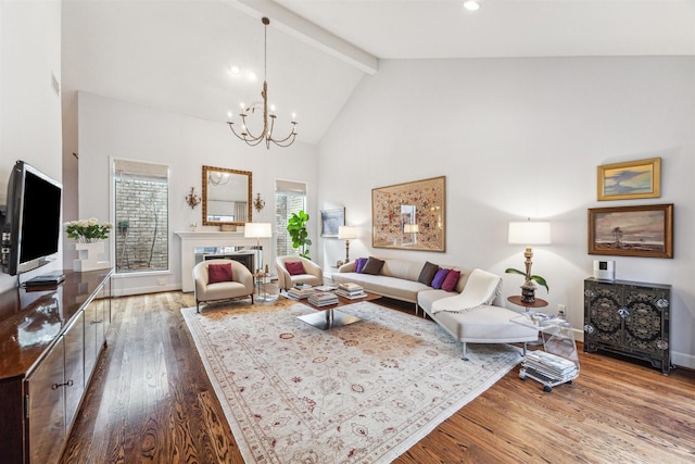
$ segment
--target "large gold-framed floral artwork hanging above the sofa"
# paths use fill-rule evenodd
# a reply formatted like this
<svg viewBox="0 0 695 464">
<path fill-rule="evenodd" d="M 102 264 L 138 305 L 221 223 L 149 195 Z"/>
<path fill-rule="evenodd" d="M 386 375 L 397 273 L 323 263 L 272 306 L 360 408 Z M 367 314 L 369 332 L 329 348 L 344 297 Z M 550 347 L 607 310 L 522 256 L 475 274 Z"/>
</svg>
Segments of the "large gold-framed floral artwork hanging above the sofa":
<svg viewBox="0 0 695 464">
<path fill-rule="evenodd" d="M 371 189 L 371 246 L 446 251 L 446 177 Z"/>
</svg>

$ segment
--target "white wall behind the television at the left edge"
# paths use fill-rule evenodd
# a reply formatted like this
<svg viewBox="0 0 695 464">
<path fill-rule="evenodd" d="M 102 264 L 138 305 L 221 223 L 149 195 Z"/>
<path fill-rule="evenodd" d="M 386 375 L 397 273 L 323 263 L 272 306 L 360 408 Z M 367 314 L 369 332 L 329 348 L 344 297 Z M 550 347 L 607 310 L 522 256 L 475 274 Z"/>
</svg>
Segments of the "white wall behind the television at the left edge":
<svg viewBox="0 0 695 464">
<path fill-rule="evenodd" d="M 17 160 L 62 179 L 61 100 L 51 84 L 51 73 L 61 80 L 60 43 L 60 1 L 0 1 L 0 204 Z M 22 280 L 62 267 L 59 256 Z M 16 284 L 0 274 L 0 291 Z"/>
</svg>

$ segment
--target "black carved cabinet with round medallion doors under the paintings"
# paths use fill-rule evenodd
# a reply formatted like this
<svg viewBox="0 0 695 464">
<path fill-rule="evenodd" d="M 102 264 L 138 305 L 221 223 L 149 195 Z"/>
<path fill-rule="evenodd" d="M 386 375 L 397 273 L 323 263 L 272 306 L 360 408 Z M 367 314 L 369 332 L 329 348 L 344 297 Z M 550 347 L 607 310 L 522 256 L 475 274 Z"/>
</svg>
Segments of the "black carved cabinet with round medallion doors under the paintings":
<svg viewBox="0 0 695 464">
<path fill-rule="evenodd" d="M 665 375 L 671 368 L 671 286 L 584 280 L 584 351 L 645 360 Z"/>
</svg>

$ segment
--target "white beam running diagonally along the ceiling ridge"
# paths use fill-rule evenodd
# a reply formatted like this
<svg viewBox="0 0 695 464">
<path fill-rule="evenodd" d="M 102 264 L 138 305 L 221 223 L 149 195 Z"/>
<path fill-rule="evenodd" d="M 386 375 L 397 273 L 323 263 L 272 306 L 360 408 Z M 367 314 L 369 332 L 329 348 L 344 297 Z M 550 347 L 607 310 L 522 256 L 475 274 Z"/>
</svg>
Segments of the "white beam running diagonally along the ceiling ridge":
<svg viewBox="0 0 695 464">
<path fill-rule="evenodd" d="M 376 74 L 379 59 L 341 39 L 323 27 L 292 13 L 271 0 L 225 0 L 253 17 L 267 16 L 270 24 L 367 74 Z"/>
</svg>

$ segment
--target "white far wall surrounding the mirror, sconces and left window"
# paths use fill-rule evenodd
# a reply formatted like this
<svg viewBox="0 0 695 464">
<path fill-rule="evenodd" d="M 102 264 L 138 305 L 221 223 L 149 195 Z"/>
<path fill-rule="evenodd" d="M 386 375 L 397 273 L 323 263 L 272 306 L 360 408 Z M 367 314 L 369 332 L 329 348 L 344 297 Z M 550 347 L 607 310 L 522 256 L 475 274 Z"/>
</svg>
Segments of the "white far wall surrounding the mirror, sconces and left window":
<svg viewBox="0 0 695 464">
<path fill-rule="evenodd" d="M 170 271 L 139 274 L 115 279 L 117 293 L 179 289 L 181 287 L 179 247 L 175 231 L 202 225 L 202 206 L 193 211 L 185 202 L 191 187 L 202 192 L 202 166 L 210 165 L 252 172 L 253 197 L 261 193 L 265 209 L 253 211 L 254 222 L 275 221 L 277 178 L 316 185 L 316 148 L 295 142 L 289 148 L 248 147 L 229 130 L 226 120 L 218 123 L 167 113 L 105 97 L 79 92 L 79 216 L 105 221 L 110 211 L 110 158 L 167 164 L 169 166 Z M 86 174 L 88 173 L 88 174 Z M 308 192 L 309 211 L 316 208 L 316 189 Z M 218 227 L 200 227 L 217 230 Z M 112 241 L 112 240 L 110 240 Z M 113 244 L 111 244 L 113 247 Z M 113 255 L 113 250 L 111 250 Z M 271 250 L 271 256 L 275 250 Z M 265 260 L 265 259 L 264 259 Z M 268 262 L 267 260 L 265 260 Z M 112 259 L 112 263 L 115 261 Z"/>
</svg>

